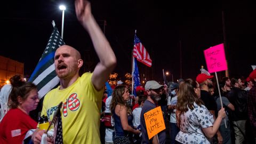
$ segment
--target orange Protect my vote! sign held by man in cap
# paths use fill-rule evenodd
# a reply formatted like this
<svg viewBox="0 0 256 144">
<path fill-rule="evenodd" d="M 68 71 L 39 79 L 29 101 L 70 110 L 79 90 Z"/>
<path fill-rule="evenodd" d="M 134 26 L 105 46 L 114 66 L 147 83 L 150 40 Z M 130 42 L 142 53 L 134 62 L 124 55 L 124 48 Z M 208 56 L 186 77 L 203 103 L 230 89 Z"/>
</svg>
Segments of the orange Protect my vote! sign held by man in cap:
<svg viewBox="0 0 256 144">
<path fill-rule="evenodd" d="M 164 118 L 161 107 L 149 110 L 144 114 L 145 123 L 148 132 L 148 139 L 151 139 L 157 133 L 165 130 Z"/>
</svg>

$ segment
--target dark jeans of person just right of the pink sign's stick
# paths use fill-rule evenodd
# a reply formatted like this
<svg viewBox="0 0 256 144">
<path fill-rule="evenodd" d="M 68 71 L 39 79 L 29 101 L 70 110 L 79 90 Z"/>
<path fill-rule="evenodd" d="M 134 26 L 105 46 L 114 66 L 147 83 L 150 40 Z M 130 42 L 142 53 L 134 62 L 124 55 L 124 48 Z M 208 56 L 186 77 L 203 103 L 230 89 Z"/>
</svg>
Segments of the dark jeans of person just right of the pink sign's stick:
<svg viewBox="0 0 256 144">
<path fill-rule="evenodd" d="M 226 121 L 227 123 L 227 128 L 225 127 L 225 124 L 224 125 L 220 125 L 220 133 L 221 133 L 221 136 L 222 136 L 222 139 L 223 139 L 223 144 L 231 144 L 231 131 L 230 131 L 230 124 L 229 124 L 229 121 Z"/>
</svg>

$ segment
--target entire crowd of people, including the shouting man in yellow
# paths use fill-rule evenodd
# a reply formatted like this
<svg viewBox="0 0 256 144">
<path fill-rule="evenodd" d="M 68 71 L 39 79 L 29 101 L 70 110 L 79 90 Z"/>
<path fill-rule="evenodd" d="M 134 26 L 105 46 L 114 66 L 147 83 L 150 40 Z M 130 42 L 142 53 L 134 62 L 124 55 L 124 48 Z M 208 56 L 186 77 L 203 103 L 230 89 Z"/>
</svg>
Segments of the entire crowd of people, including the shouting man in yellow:
<svg viewBox="0 0 256 144">
<path fill-rule="evenodd" d="M 62 102 L 62 137 L 44 137 L 51 135 L 29 116 L 38 106 L 37 87 L 16 75 L 0 93 L 0 143 L 162 144 L 168 135 L 170 143 L 256 142 L 256 70 L 247 79 L 223 77 L 219 86 L 207 74 L 164 85 L 147 81 L 136 87 L 136 97 L 130 86 L 118 81 L 109 94 L 104 85 L 117 63 L 115 54 L 91 14 L 90 3 L 76 0 L 75 8 L 99 63 L 93 73 L 79 76 L 81 54 L 68 45 L 56 50 L 54 66 L 60 85 L 44 96 L 41 116 L 54 121 Z M 158 106 L 169 131 L 149 139 L 144 114 Z"/>
</svg>

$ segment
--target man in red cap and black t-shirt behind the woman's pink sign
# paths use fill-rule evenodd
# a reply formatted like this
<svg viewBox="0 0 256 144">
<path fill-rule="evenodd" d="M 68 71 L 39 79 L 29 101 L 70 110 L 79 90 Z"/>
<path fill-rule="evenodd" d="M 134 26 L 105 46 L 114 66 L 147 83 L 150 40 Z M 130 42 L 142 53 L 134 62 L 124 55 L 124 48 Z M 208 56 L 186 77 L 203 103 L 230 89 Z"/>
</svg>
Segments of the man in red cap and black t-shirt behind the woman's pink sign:
<svg viewBox="0 0 256 144">
<path fill-rule="evenodd" d="M 199 74 L 196 77 L 196 81 L 198 82 L 199 86 L 201 87 L 201 100 L 203 100 L 205 107 L 209 110 L 209 112 L 213 115 L 214 120 L 215 111 L 217 111 L 217 103 L 213 97 L 209 94 L 209 87 L 212 87 L 212 80 L 213 76 L 209 76 L 206 74 Z M 219 143 L 222 143 L 223 139 L 221 136 L 220 131 L 217 131 L 217 139 Z"/>
</svg>

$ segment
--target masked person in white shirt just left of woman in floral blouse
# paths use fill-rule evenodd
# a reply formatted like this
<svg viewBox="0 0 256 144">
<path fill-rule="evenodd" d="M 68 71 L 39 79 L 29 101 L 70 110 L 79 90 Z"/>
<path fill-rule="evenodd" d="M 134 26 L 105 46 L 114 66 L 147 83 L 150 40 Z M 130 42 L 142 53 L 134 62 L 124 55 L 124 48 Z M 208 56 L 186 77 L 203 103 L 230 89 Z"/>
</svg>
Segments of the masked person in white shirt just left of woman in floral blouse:
<svg viewBox="0 0 256 144">
<path fill-rule="evenodd" d="M 177 98 L 178 98 L 178 91 L 179 91 L 179 84 L 177 83 L 172 83 L 170 85 L 170 90 L 171 93 L 169 93 L 169 97 L 167 100 L 167 108 L 168 110 L 171 111 L 171 115 L 170 115 L 170 129 L 169 129 L 169 133 L 170 133 L 170 137 L 171 137 L 171 143 L 175 143 L 175 137 L 178 134 L 178 132 L 180 131 L 179 127 L 177 126 L 177 122 L 176 122 L 176 105 L 177 105 Z"/>
</svg>

